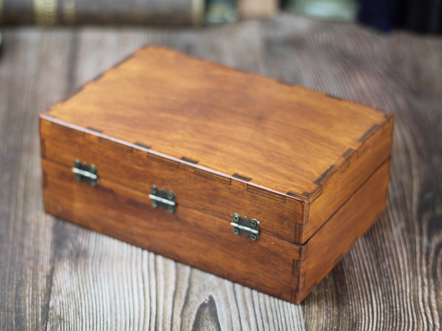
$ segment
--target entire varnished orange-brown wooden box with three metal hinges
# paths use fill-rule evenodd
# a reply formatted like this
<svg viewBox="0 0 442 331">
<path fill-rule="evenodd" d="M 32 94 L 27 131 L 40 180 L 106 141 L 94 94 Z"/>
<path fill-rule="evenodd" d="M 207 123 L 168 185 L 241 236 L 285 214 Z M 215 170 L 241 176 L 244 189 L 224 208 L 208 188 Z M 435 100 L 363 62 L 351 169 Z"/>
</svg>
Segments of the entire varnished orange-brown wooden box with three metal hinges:
<svg viewBox="0 0 442 331">
<path fill-rule="evenodd" d="M 299 303 L 384 211 L 393 121 L 146 47 L 41 114 L 44 205 Z"/>
</svg>

